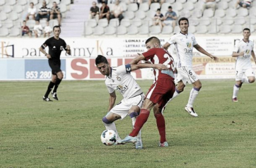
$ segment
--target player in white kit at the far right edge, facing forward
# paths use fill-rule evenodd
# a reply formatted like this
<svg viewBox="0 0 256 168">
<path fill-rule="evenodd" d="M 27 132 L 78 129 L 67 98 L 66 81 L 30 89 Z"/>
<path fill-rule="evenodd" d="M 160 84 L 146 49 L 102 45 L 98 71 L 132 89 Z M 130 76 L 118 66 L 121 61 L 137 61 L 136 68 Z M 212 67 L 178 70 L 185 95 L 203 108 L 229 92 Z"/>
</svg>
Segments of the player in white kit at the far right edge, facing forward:
<svg viewBox="0 0 256 168">
<path fill-rule="evenodd" d="M 255 81 L 255 71 L 251 66 L 251 56 L 256 63 L 255 54 L 253 51 L 253 42 L 249 40 L 251 32 L 249 28 L 243 30 L 243 40 L 236 42 L 232 57 L 236 57 L 236 84 L 233 89 L 232 101 L 236 102 L 237 94 L 242 86 L 242 83 L 253 83 Z"/>
</svg>

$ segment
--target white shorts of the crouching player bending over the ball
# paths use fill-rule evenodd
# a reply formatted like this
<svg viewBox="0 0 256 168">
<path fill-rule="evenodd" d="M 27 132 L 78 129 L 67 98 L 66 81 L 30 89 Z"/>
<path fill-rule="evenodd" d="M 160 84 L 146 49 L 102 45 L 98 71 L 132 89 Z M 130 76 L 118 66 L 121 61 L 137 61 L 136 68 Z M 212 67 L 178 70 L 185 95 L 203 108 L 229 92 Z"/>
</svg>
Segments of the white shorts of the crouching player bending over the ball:
<svg viewBox="0 0 256 168">
<path fill-rule="evenodd" d="M 121 120 L 128 115 L 131 106 L 138 106 L 141 108 L 142 103 L 144 101 L 145 95 L 141 93 L 135 97 L 131 97 L 129 99 L 122 99 L 114 108 L 110 110 L 111 113 L 118 114 L 121 116 Z"/>
</svg>

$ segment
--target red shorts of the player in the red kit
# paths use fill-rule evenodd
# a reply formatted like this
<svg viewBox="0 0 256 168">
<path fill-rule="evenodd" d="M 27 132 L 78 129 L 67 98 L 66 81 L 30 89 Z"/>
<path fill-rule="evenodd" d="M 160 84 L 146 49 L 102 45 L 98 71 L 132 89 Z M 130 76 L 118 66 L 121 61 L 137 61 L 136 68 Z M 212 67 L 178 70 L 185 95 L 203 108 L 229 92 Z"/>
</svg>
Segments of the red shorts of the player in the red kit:
<svg viewBox="0 0 256 168">
<path fill-rule="evenodd" d="M 153 103 L 158 103 L 159 108 L 162 109 L 172 98 L 175 91 L 175 84 L 172 79 L 158 79 L 152 84 L 146 95 L 147 99 L 150 99 Z"/>
</svg>

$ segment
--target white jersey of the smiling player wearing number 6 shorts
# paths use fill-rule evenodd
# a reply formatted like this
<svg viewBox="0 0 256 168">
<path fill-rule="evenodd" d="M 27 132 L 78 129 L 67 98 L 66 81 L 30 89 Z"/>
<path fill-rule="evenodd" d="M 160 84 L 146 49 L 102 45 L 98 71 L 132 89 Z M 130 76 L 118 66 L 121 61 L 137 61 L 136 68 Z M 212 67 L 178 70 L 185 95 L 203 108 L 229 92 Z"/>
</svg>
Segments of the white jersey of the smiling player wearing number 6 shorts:
<svg viewBox="0 0 256 168">
<path fill-rule="evenodd" d="M 182 34 L 181 32 L 174 34 L 169 44 L 174 44 L 177 50 L 177 67 L 192 67 L 193 46 L 197 44 L 195 36 L 191 33 Z"/>
</svg>

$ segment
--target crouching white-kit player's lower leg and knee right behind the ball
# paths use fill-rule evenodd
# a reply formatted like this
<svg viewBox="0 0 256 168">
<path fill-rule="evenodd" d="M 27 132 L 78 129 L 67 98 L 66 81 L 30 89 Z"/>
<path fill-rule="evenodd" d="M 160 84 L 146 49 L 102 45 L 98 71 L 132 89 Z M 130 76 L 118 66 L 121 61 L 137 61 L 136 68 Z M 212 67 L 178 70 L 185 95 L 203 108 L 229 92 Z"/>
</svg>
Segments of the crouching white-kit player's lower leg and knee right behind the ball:
<svg viewBox="0 0 256 168">
<path fill-rule="evenodd" d="M 102 122 L 106 128 L 106 130 L 114 130 L 117 134 L 117 140 L 120 140 L 119 134 L 117 132 L 117 127 L 115 125 L 115 120 L 120 119 L 121 116 L 119 114 L 115 114 L 113 112 L 108 112 L 104 118 L 102 118 Z"/>
</svg>

